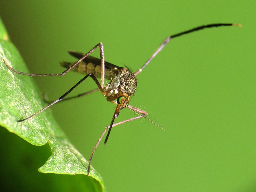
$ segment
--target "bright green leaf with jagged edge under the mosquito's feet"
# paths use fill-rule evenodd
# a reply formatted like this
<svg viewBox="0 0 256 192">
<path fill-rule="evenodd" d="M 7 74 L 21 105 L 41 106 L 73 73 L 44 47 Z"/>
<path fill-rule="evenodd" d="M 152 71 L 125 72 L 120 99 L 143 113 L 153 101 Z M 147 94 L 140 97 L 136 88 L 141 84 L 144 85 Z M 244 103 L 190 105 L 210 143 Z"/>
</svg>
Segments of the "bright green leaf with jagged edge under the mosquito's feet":
<svg viewBox="0 0 256 192">
<path fill-rule="evenodd" d="M 35 146 L 49 144 L 52 154 L 46 163 L 38 169 L 40 172 L 72 175 L 87 174 L 88 161 L 70 143 L 49 110 L 45 110 L 24 122 L 17 122 L 17 120 L 38 112 L 46 104 L 43 102 L 42 94 L 32 77 L 16 74 L 4 64 L 6 62 L 20 72 L 29 73 L 18 50 L 8 39 L 8 34 L 0 20 L 0 125 Z M 2 131 L 2 128 L 0 129 Z M 16 142 L 8 140 L 6 143 Z M 21 147 L 22 144 L 15 146 L 18 151 L 22 151 Z M 18 161 L 18 158 L 21 157 L 16 158 Z M 104 191 L 102 178 L 92 167 L 90 176 L 94 179 L 83 176 L 77 182 L 80 183 L 81 180 L 84 180 L 85 183 L 87 182 L 84 186 L 93 186 L 94 191 Z M 66 179 L 65 182 L 74 182 L 74 180 L 73 178 Z M 52 182 L 59 181 L 52 180 Z M 24 183 L 24 185 L 26 184 Z"/>
</svg>

